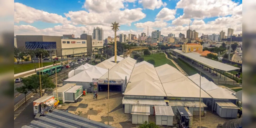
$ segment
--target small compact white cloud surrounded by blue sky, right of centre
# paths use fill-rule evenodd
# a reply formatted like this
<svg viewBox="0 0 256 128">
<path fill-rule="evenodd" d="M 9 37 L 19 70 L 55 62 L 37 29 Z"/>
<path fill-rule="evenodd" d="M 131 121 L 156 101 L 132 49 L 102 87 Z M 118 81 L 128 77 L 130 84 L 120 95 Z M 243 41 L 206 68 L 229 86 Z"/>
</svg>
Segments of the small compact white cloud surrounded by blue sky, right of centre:
<svg viewBox="0 0 256 128">
<path fill-rule="evenodd" d="M 155 20 L 173 20 L 175 19 L 176 10 L 175 9 L 169 9 L 169 8 L 163 8 L 157 15 Z"/>
</svg>

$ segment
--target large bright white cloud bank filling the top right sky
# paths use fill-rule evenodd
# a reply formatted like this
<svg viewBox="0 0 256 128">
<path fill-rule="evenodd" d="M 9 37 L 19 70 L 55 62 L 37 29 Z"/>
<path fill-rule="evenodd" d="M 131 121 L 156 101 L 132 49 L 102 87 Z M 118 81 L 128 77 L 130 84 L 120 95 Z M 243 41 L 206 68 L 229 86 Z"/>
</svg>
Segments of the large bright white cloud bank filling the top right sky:
<svg viewBox="0 0 256 128">
<path fill-rule="evenodd" d="M 183 18 L 198 18 L 227 16 L 240 13 L 242 6 L 231 0 L 181 0 L 176 8 L 183 9 Z"/>
</svg>

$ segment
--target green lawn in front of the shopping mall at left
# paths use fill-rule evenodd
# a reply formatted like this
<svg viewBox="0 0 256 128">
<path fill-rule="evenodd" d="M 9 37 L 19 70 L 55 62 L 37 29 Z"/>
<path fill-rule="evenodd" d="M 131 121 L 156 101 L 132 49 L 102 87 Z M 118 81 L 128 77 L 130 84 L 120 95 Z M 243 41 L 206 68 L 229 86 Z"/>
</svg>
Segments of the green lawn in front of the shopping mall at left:
<svg viewBox="0 0 256 128">
<path fill-rule="evenodd" d="M 57 63 L 60 63 L 60 61 L 57 61 Z M 53 62 L 44 62 L 43 66 L 53 65 Z M 42 64 L 40 63 L 40 67 Z M 36 68 L 39 68 L 38 63 L 36 63 Z M 29 71 L 35 69 L 34 63 L 26 63 L 26 64 L 18 64 L 14 65 L 14 74 Z"/>
</svg>

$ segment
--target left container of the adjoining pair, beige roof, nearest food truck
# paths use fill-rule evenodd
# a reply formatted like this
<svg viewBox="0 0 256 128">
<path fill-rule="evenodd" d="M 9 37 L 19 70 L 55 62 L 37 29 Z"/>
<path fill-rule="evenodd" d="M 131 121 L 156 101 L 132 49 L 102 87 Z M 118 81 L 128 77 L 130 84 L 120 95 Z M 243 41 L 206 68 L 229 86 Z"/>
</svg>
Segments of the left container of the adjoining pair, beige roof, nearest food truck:
<svg viewBox="0 0 256 128">
<path fill-rule="evenodd" d="M 69 89 L 71 89 L 72 87 L 74 87 L 76 84 L 75 83 L 67 83 L 65 85 L 63 85 L 62 87 L 57 89 L 57 93 L 58 93 L 58 99 L 60 101 L 61 104 L 65 103 L 65 92 Z M 56 96 L 56 90 L 52 92 L 54 97 L 57 98 Z"/>
</svg>

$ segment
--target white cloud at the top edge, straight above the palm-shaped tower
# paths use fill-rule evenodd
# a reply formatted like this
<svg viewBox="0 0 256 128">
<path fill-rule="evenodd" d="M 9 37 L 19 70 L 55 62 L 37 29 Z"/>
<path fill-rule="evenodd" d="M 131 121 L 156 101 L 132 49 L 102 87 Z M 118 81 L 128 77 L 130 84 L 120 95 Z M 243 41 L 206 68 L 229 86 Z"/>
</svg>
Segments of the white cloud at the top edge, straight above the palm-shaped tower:
<svg viewBox="0 0 256 128">
<path fill-rule="evenodd" d="M 84 7 L 89 12 L 111 12 L 124 8 L 124 0 L 86 0 Z"/>
</svg>

